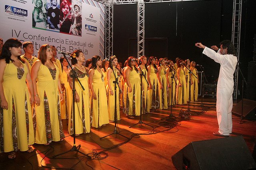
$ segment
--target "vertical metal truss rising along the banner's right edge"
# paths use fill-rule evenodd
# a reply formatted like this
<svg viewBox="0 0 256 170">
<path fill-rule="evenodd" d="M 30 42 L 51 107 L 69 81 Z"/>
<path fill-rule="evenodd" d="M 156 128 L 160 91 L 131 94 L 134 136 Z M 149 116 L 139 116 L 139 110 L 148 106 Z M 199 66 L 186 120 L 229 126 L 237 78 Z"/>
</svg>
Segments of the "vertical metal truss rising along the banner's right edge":
<svg viewBox="0 0 256 170">
<path fill-rule="evenodd" d="M 105 58 L 113 55 L 113 3 L 105 4 Z"/>
</svg>

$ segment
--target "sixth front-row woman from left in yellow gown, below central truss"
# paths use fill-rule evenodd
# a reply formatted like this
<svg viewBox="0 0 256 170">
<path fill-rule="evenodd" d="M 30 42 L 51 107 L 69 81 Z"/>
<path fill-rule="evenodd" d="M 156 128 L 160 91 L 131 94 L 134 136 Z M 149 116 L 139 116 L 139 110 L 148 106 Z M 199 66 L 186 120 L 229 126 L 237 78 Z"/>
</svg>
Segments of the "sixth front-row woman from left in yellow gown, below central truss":
<svg viewBox="0 0 256 170">
<path fill-rule="evenodd" d="M 136 68 L 135 57 L 127 59 L 127 66 L 124 70 L 124 107 L 125 114 L 133 119 L 140 115 L 140 72 Z"/>
</svg>

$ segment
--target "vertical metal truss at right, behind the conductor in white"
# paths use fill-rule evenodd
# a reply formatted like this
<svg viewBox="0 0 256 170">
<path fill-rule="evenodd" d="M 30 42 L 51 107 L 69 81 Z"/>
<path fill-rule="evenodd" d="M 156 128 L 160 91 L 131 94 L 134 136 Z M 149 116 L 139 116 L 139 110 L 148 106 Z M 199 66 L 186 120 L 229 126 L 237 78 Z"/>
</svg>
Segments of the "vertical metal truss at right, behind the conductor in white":
<svg viewBox="0 0 256 170">
<path fill-rule="evenodd" d="M 233 20 L 232 20 L 232 43 L 236 48 L 237 59 L 239 61 L 240 34 L 241 34 L 242 0 L 233 0 Z M 239 63 L 237 63 L 239 65 Z M 233 99 L 237 99 L 238 67 L 234 72 L 234 92 Z"/>
</svg>

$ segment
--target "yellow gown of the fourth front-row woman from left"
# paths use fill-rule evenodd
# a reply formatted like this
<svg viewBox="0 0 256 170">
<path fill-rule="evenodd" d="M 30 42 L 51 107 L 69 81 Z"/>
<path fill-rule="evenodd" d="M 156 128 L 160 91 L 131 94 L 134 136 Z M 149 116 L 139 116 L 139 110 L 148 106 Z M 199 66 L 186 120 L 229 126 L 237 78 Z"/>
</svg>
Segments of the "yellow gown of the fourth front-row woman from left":
<svg viewBox="0 0 256 170">
<path fill-rule="evenodd" d="M 100 127 L 108 124 L 108 103 L 106 96 L 106 88 L 104 83 L 105 73 L 101 73 L 95 69 L 92 79 L 92 86 L 97 99 L 92 98 L 92 127 Z"/>
</svg>

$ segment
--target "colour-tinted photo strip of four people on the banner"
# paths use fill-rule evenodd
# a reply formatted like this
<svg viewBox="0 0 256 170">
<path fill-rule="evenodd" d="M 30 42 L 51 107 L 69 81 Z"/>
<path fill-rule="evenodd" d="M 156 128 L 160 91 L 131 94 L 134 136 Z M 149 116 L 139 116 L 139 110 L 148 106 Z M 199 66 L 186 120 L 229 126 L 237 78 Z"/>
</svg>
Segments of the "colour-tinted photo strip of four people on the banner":
<svg viewBox="0 0 256 170">
<path fill-rule="evenodd" d="M 82 36 L 80 0 L 33 0 L 32 4 L 34 28 Z"/>
</svg>

